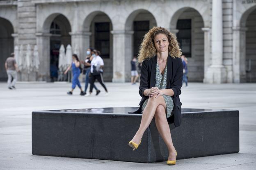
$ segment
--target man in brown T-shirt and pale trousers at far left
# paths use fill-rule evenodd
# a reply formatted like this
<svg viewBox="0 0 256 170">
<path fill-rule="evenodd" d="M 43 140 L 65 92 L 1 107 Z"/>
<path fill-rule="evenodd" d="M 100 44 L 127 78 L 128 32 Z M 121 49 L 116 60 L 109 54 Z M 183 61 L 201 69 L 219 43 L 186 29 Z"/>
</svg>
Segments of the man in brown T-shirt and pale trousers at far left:
<svg viewBox="0 0 256 170">
<path fill-rule="evenodd" d="M 11 53 L 11 57 L 8 57 L 5 61 L 5 70 L 8 75 L 8 88 L 10 90 L 15 89 L 15 83 L 17 81 L 17 71 L 18 66 L 16 64 L 16 61 L 14 59 L 14 53 Z M 11 79 L 13 78 L 13 81 L 11 82 Z"/>
</svg>

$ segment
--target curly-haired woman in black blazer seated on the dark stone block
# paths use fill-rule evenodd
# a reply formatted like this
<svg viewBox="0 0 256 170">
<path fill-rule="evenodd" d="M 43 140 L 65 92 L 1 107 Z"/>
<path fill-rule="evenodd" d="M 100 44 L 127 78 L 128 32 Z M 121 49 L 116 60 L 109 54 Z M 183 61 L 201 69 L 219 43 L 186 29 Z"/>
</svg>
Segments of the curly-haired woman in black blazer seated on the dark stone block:
<svg viewBox="0 0 256 170">
<path fill-rule="evenodd" d="M 144 36 L 139 51 L 139 62 L 142 62 L 139 95 L 142 96 L 142 100 L 139 109 L 133 112 L 142 113 L 142 120 L 137 133 L 128 143 L 133 150 L 137 149 L 144 131 L 155 118 L 158 132 L 169 151 L 168 165 L 175 165 L 177 156 L 168 122 L 174 120 L 175 127 L 181 124 L 179 95 L 183 64 L 180 56 L 176 36 L 167 29 L 153 27 Z"/>
</svg>

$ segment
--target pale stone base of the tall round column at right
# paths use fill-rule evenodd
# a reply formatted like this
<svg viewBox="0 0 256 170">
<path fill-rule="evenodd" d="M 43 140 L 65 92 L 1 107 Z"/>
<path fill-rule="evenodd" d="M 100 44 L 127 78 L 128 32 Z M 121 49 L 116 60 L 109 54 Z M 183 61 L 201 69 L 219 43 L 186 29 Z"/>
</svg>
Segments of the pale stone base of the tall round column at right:
<svg viewBox="0 0 256 170">
<path fill-rule="evenodd" d="M 226 68 L 223 65 L 212 65 L 207 69 L 206 77 L 203 79 L 203 82 L 209 84 L 226 83 L 226 76 Z"/>
</svg>

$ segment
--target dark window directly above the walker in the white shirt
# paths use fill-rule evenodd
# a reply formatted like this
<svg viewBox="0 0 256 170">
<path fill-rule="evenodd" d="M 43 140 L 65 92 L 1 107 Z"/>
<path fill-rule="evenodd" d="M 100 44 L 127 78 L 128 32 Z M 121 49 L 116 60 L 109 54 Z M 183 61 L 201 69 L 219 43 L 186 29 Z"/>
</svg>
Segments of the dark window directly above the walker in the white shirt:
<svg viewBox="0 0 256 170">
<path fill-rule="evenodd" d="M 95 23 L 95 49 L 101 52 L 101 57 L 110 58 L 110 23 Z"/>
</svg>

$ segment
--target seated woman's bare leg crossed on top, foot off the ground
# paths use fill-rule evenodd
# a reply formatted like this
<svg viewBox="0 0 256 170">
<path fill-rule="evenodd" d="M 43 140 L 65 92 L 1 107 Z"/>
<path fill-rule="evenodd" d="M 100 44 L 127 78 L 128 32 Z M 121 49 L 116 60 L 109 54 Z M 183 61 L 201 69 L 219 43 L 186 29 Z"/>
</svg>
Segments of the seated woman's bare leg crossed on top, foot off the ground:
<svg viewBox="0 0 256 170">
<path fill-rule="evenodd" d="M 158 96 L 158 98 L 155 98 L 155 97 L 156 95 L 149 97 L 148 103 L 142 113 L 142 120 L 140 122 L 139 129 L 132 139 L 132 141 L 137 144 L 139 144 L 139 141 L 141 140 L 146 128 L 149 127 L 150 122 L 152 121 L 155 115 L 155 110 L 158 107 L 158 105 L 163 105 L 166 108 L 164 97 L 162 96 Z"/>
</svg>

